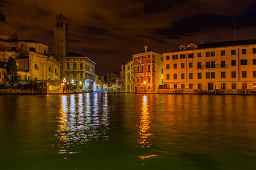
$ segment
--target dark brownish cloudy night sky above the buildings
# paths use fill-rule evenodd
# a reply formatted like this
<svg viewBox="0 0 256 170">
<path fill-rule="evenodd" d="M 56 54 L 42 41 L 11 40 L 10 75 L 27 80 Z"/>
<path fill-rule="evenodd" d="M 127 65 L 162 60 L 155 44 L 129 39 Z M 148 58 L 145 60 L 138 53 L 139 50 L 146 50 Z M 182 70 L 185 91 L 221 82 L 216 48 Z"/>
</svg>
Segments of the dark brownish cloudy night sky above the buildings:
<svg viewBox="0 0 256 170">
<path fill-rule="evenodd" d="M 96 73 L 119 72 L 144 45 L 168 52 L 180 45 L 256 38 L 255 0 L 34 1 L 2 0 L 18 39 L 46 44 L 52 53 L 53 20 L 69 23 L 69 52 L 97 63 Z"/>
</svg>

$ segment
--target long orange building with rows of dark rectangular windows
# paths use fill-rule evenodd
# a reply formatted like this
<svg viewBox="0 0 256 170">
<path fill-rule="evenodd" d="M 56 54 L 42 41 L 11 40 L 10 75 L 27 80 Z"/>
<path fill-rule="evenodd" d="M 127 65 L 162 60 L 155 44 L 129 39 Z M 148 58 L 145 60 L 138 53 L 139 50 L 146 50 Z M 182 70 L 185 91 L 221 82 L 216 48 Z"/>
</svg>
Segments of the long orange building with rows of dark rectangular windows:
<svg viewBox="0 0 256 170">
<path fill-rule="evenodd" d="M 256 89 L 256 40 L 181 45 L 163 53 L 170 92 L 248 92 Z"/>
</svg>

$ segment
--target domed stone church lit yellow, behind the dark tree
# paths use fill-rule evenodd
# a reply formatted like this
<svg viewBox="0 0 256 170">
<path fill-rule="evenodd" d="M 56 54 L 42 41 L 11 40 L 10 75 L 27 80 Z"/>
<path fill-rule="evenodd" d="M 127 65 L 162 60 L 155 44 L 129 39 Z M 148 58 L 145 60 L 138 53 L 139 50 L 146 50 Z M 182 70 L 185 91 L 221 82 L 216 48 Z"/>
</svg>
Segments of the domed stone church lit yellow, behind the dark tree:
<svg viewBox="0 0 256 170">
<path fill-rule="evenodd" d="M 19 84 L 59 80 L 60 63 L 48 54 L 48 46 L 34 40 L 18 40 L 15 28 L 0 11 L 0 84 L 5 83 L 5 65 L 9 57 L 16 59 Z"/>
</svg>

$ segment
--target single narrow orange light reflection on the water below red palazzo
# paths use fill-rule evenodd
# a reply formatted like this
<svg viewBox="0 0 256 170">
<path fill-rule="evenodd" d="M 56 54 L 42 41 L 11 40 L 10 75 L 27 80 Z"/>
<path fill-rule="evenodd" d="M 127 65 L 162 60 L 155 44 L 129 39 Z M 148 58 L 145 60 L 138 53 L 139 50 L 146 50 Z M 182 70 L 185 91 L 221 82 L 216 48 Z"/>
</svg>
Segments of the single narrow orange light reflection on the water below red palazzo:
<svg viewBox="0 0 256 170">
<path fill-rule="evenodd" d="M 142 148 L 148 148 L 151 143 L 151 138 L 153 137 L 154 133 L 150 133 L 150 123 L 151 117 L 150 112 L 148 109 L 148 96 L 142 96 L 142 107 L 141 107 L 141 116 L 140 116 L 140 124 L 139 124 L 139 144 Z M 151 158 L 156 155 L 144 155 L 139 156 L 142 160 L 145 158 Z"/>
</svg>

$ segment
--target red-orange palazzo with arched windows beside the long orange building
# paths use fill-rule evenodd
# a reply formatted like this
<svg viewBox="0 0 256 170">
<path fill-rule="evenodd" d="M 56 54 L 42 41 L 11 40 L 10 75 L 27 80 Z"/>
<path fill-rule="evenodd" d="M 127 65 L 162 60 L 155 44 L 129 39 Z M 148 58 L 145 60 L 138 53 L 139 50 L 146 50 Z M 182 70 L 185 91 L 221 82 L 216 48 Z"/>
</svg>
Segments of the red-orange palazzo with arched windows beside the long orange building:
<svg viewBox="0 0 256 170">
<path fill-rule="evenodd" d="M 163 54 L 144 46 L 133 55 L 133 92 L 157 93 L 163 84 Z"/>
</svg>

